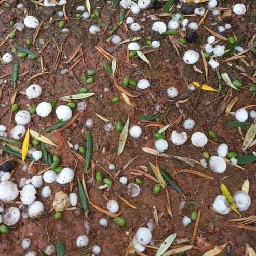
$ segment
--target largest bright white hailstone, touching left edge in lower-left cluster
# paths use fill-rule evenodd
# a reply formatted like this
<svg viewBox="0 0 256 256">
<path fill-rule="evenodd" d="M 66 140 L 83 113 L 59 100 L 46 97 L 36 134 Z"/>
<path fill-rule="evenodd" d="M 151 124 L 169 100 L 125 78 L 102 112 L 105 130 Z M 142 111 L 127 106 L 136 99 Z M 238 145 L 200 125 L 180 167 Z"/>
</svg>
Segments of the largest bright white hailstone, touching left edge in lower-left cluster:
<svg viewBox="0 0 256 256">
<path fill-rule="evenodd" d="M 0 200 L 8 203 L 15 200 L 19 195 L 17 185 L 12 181 L 5 181 L 0 183 Z"/>
</svg>

